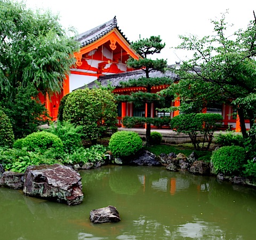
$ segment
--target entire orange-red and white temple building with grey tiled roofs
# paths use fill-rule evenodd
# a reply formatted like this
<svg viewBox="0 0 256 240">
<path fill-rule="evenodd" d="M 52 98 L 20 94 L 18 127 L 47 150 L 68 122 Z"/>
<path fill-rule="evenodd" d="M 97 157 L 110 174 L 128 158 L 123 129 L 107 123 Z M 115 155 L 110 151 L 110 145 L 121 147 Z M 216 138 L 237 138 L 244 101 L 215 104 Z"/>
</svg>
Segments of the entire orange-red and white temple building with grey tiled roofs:
<svg viewBox="0 0 256 240">
<path fill-rule="evenodd" d="M 130 94 L 135 91 L 145 91 L 143 87 L 126 87 L 122 88 L 119 84 L 121 81 L 129 81 L 129 79 L 138 79 L 145 77 L 142 70 L 127 68 L 125 62 L 129 57 L 139 59 L 141 56 L 130 47 L 130 42 L 117 26 L 116 17 L 102 25 L 95 27 L 76 37 L 81 44 L 79 52 L 74 53 L 76 58 L 76 66 L 70 69 L 70 74 L 63 83 L 63 89 L 60 94 L 44 98 L 39 98 L 45 104 L 49 115 L 53 121 L 57 120 L 58 108 L 61 98 L 71 91 L 81 89 L 86 86 L 93 87 L 96 82 L 100 82 L 106 86 L 109 82 L 115 87 L 114 93 Z M 170 77 L 173 81 L 177 81 L 178 77 L 171 70 L 165 73 L 160 71 L 151 71 L 149 77 Z M 165 89 L 168 85 L 154 86 L 151 92 L 155 93 Z M 179 106 L 179 100 L 169 100 L 169 106 Z M 155 110 L 155 106 L 151 104 L 151 116 L 162 117 L 166 113 L 159 113 Z M 223 117 L 223 130 L 229 127 L 230 130 L 240 130 L 239 118 L 233 118 L 233 109 L 224 103 L 214 103 L 207 106 L 205 112 L 218 113 Z M 174 111 L 167 116 L 173 117 L 179 114 Z M 118 105 L 118 126 L 123 126 L 121 119 L 124 116 L 145 116 L 145 108 L 136 108 L 133 103 L 122 102 Z M 166 115 L 165 115 L 166 116 Z M 250 128 L 249 122 L 246 128 Z"/>
</svg>

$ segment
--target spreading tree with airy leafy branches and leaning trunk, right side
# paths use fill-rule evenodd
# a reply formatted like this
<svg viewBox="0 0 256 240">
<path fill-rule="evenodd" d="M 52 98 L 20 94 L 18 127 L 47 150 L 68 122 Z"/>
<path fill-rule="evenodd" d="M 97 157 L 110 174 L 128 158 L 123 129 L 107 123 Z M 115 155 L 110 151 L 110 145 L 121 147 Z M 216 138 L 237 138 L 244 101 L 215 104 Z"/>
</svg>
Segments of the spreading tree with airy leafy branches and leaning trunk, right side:
<svg viewBox="0 0 256 240">
<path fill-rule="evenodd" d="M 193 58 L 173 69 L 180 77 L 179 84 L 163 93 L 177 93 L 180 110 L 185 113 L 201 111 L 214 101 L 230 104 L 237 109 L 247 137 L 245 119 L 249 118 L 252 126 L 256 117 L 256 19 L 245 30 L 230 35 L 225 14 L 212 21 L 212 36 L 180 36 L 182 43 L 177 49 L 192 51 Z"/>
</svg>

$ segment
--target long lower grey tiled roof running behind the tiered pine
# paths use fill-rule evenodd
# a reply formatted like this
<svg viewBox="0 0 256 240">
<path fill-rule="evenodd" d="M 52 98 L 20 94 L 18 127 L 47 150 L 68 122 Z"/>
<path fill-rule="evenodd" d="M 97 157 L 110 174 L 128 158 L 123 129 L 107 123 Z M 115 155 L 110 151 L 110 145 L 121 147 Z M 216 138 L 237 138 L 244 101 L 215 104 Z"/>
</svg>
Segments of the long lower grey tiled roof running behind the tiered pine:
<svg viewBox="0 0 256 240">
<path fill-rule="evenodd" d="M 170 77 L 174 81 L 178 79 L 178 76 L 173 73 L 171 70 L 171 66 L 169 66 L 170 70 L 165 71 L 165 73 L 162 73 L 161 71 L 150 71 L 149 77 Z M 100 76 L 97 80 L 87 84 L 86 86 L 90 89 L 94 86 L 98 86 L 97 82 L 100 82 L 102 86 L 107 86 L 108 83 L 111 84 L 111 86 L 119 87 L 121 86 L 120 82 L 127 82 L 129 79 L 138 79 L 140 77 L 146 77 L 145 71 L 143 70 L 133 70 L 133 71 L 127 71 L 126 73 L 120 73 L 120 74 L 111 74 L 107 76 Z M 79 87 L 79 89 L 84 89 L 85 86 Z"/>
</svg>

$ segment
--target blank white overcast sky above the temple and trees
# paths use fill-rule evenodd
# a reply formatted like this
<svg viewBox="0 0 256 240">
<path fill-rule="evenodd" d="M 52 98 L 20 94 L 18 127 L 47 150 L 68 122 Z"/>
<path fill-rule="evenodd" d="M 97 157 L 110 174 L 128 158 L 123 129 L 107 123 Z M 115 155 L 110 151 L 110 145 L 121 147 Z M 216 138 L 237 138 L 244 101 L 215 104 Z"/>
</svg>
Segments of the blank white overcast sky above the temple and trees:
<svg viewBox="0 0 256 240">
<path fill-rule="evenodd" d="M 18 0 L 21 1 L 21 0 Z M 90 30 L 116 16 L 117 25 L 129 41 L 139 37 L 161 36 L 166 44 L 157 58 L 173 64 L 186 58 L 186 52 L 172 47 L 180 43 L 179 35 L 211 35 L 211 19 L 220 19 L 228 10 L 226 20 L 233 23 L 232 33 L 246 28 L 256 12 L 255 0 L 25 0 L 31 9 L 50 9 L 59 14 L 63 27 L 74 26 L 78 33 Z"/>
</svg>

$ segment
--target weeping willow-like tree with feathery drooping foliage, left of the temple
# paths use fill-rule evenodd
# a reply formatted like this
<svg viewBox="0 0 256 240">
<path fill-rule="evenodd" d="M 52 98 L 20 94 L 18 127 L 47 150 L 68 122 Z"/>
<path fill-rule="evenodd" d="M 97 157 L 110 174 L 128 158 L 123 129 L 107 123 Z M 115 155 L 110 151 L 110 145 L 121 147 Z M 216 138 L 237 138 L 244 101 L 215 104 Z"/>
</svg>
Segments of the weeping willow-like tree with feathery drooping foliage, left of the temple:
<svg viewBox="0 0 256 240">
<path fill-rule="evenodd" d="M 33 12 L 23 3 L 0 0 L 0 103 L 7 108 L 6 114 L 11 112 L 10 106 L 20 102 L 16 98 L 22 91 L 27 90 L 25 94 L 33 99 L 35 91 L 50 96 L 61 91 L 79 45 L 58 20 L 49 11 Z M 43 113 L 43 108 L 34 109 L 37 112 L 30 113 L 24 123 L 33 122 L 33 116 L 36 122 Z M 10 118 L 17 114 L 28 115 L 13 113 Z"/>
</svg>

